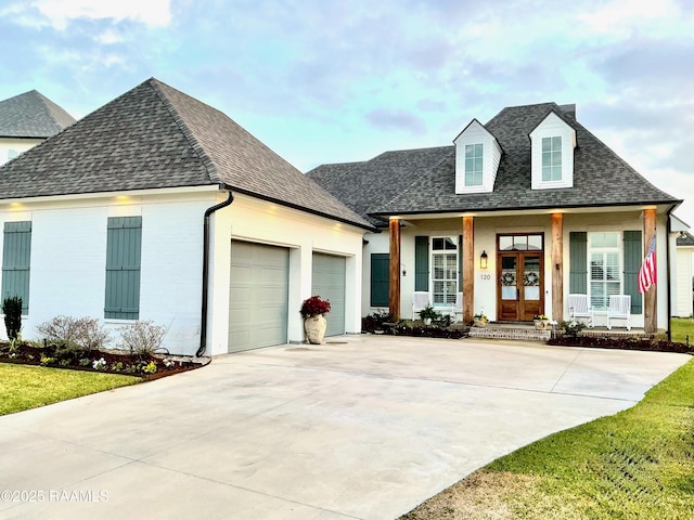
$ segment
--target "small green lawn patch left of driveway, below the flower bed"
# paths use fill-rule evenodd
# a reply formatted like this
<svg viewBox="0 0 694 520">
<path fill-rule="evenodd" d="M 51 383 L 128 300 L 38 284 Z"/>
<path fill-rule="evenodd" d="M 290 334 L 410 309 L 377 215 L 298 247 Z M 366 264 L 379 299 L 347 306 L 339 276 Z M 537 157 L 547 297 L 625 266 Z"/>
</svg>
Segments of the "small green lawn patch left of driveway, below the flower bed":
<svg viewBox="0 0 694 520">
<path fill-rule="evenodd" d="M 139 377 L 0 363 L 0 415 L 141 381 Z"/>
</svg>

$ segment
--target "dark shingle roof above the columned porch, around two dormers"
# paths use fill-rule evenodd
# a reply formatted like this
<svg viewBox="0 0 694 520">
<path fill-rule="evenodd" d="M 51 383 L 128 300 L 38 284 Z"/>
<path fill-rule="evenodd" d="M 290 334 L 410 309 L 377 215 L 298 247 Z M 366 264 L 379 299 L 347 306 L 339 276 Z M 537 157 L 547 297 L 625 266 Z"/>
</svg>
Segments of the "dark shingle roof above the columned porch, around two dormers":
<svg viewBox="0 0 694 520">
<path fill-rule="evenodd" d="M 531 190 L 529 133 L 551 112 L 576 130 L 574 186 Z M 320 166 L 307 174 L 372 217 L 681 203 L 646 181 L 555 103 L 506 107 L 485 128 L 503 151 L 492 193 L 455 193 L 454 146 L 388 152 L 349 167 Z"/>
</svg>

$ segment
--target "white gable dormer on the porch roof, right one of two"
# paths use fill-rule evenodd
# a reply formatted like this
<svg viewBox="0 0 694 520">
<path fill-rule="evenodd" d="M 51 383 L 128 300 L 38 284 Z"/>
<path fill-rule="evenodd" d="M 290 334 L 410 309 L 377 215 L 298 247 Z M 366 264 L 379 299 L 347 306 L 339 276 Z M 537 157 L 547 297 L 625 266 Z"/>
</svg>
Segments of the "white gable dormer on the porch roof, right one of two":
<svg viewBox="0 0 694 520">
<path fill-rule="evenodd" d="M 532 190 L 574 186 L 576 130 L 550 112 L 530 132 Z"/>
</svg>

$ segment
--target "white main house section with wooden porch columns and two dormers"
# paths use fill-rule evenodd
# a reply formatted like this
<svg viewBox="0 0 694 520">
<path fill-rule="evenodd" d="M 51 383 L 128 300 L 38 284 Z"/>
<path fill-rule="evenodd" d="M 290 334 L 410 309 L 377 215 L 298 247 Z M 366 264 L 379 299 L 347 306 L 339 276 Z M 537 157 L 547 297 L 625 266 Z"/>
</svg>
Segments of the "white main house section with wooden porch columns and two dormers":
<svg viewBox="0 0 694 520">
<path fill-rule="evenodd" d="M 638 290 L 655 236 L 668 277 L 678 198 L 658 190 L 576 118 L 542 103 L 473 119 L 452 146 L 386 152 L 308 176 L 377 226 L 364 237 L 362 314 L 415 317 L 415 298 L 472 322 L 567 320 L 587 295 L 597 325 L 611 295 L 631 295 L 631 323 L 667 328 L 668 286 Z"/>
</svg>

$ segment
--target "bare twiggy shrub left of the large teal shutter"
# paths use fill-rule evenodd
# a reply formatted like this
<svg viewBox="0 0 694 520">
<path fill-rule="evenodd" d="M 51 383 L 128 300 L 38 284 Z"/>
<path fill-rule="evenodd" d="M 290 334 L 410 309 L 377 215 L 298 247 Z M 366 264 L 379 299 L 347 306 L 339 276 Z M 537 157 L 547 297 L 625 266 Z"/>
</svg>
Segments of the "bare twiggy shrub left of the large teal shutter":
<svg viewBox="0 0 694 520">
<path fill-rule="evenodd" d="M 63 355 L 101 349 L 111 339 L 99 320 L 92 317 L 75 318 L 60 315 L 36 328 L 46 341 L 55 343 Z"/>
</svg>

